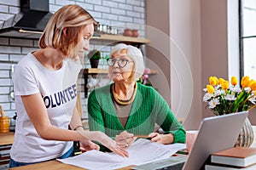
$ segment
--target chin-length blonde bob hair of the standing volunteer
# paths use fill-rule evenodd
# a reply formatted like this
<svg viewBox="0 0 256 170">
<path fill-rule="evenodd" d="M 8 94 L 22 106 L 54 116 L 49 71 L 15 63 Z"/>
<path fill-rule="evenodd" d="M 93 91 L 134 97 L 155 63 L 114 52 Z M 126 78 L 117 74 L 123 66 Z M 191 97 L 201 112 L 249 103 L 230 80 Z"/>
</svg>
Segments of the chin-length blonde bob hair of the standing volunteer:
<svg viewBox="0 0 256 170">
<path fill-rule="evenodd" d="M 63 6 L 49 19 L 39 39 L 39 47 L 55 48 L 69 55 L 79 43 L 81 30 L 89 24 L 96 24 L 96 20 L 84 8 L 74 4 Z"/>
</svg>

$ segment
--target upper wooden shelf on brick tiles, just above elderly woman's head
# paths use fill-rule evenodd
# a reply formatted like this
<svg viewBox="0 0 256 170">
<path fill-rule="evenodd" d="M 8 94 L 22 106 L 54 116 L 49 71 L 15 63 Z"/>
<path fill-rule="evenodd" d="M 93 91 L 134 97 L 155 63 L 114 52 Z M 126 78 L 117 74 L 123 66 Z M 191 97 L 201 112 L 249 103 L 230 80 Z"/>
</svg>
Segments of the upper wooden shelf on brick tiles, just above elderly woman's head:
<svg viewBox="0 0 256 170">
<path fill-rule="evenodd" d="M 149 39 L 137 37 L 125 37 L 119 35 L 100 34 L 99 36 L 91 37 L 92 40 L 103 40 L 111 42 L 132 42 L 132 43 L 150 43 Z"/>
</svg>

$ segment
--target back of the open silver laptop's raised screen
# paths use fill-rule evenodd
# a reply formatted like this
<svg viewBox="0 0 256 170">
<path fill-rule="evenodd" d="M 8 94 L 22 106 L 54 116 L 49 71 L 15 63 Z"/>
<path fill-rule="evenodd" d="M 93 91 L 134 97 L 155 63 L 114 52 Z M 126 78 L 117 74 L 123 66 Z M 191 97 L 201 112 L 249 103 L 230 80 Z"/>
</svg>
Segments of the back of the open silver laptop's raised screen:
<svg viewBox="0 0 256 170">
<path fill-rule="evenodd" d="M 213 152 L 234 147 L 248 111 L 204 118 L 184 170 L 200 169 Z"/>
</svg>

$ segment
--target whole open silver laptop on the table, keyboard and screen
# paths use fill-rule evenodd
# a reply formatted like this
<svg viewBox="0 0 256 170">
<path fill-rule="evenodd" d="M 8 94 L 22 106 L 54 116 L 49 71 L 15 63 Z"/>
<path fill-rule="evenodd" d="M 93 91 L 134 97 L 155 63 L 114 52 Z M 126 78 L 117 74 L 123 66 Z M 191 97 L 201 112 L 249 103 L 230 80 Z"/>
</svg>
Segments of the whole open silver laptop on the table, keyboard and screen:
<svg viewBox="0 0 256 170">
<path fill-rule="evenodd" d="M 132 169 L 199 170 L 203 168 L 211 153 L 234 147 L 247 116 L 248 111 L 242 111 L 204 118 L 189 156 L 171 156 L 165 160 L 146 163 Z"/>
</svg>

